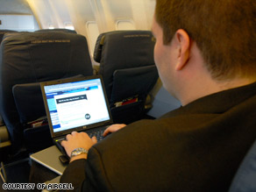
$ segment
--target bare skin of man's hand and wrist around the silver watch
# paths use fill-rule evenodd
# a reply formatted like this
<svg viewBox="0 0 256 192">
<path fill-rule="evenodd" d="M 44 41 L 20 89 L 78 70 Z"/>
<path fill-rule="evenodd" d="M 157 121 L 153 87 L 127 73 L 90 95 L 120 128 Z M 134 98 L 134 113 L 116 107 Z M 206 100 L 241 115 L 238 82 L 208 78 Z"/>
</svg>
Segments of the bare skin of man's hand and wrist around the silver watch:
<svg viewBox="0 0 256 192">
<path fill-rule="evenodd" d="M 65 148 L 68 156 L 70 157 L 71 152 L 74 149 L 78 147 L 82 147 L 86 150 L 89 150 L 89 148 L 95 145 L 96 142 L 97 142 L 96 137 L 93 137 L 92 139 L 90 139 L 89 135 L 85 132 L 72 132 L 71 134 L 67 135 L 66 140 L 63 140 L 61 142 L 61 146 Z M 80 155 L 72 157 L 70 159 L 70 162 L 78 159 L 87 159 L 87 154 L 82 153 Z"/>
</svg>

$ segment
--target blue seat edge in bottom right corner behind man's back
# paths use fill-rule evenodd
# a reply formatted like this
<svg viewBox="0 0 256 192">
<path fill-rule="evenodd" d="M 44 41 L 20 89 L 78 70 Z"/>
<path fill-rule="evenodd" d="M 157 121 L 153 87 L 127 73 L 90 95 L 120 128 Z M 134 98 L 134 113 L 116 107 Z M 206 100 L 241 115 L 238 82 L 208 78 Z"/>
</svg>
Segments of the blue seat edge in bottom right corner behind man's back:
<svg viewBox="0 0 256 192">
<path fill-rule="evenodd" d="M 229 192 L 256 191 L 256 140 L 238 167 Z"/>
</svg>

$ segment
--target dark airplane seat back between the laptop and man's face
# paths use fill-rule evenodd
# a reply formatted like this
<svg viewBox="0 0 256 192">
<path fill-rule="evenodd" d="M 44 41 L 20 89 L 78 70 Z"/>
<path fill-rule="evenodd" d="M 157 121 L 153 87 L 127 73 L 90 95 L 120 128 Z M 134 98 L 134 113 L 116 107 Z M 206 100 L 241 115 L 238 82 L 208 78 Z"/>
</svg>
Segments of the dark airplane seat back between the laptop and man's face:
<svg viewBox="0 0 256 192">
<path fill-rule="evenodd" d="M 146 97 L 159 77 L 149 31 L 104 32 L 96 40 L 94 60 L 100 63 L 114 123 L 130 124 L 146 115 Z"/>
</svg>

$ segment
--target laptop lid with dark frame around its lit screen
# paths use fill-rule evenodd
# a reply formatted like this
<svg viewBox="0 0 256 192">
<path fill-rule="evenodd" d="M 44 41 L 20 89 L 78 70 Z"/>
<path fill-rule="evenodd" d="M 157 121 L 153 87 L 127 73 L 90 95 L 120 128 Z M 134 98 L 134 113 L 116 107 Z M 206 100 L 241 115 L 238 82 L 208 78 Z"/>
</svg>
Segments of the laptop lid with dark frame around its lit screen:
<svg viewBox="0 0 256 192">
<path fill-rule="evenodd" d="M 112 124 L 101 75 L 41 82 L 52 138 Z"/>
</svg>

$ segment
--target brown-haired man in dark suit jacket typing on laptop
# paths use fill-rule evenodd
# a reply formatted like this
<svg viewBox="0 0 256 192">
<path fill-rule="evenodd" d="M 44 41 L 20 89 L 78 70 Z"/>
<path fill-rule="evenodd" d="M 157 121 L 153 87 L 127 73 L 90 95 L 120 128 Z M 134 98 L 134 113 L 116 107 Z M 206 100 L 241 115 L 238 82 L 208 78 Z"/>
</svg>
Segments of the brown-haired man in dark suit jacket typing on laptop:
<svg viewBox="0 0 256 192">
<path fill-rule="evenodd" d="M 82 191 L 227 191 L 256 139 L 255 11 L 254 0 L 157 0 L 154 59 L 182 107 L 110 126 L 98 143 L 68 135 L 60 181 Z"/>
</svg>

